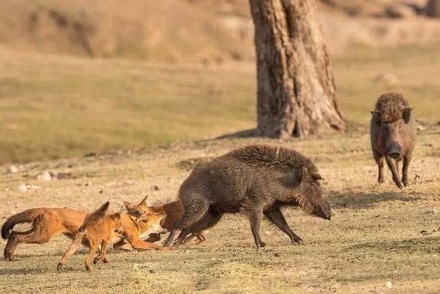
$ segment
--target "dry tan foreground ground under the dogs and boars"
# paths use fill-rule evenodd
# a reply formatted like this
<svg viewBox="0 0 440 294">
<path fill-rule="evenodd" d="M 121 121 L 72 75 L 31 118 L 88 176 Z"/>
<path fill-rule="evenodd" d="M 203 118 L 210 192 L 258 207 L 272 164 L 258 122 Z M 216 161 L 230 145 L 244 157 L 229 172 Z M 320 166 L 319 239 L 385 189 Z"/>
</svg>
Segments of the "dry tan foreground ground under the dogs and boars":
<svg viewBox="0 0 440 294">
<path fill-rule="evenodd" d="M 0 288 L 10 292 L 148 293 L 436 293 L 440 289 L 440 126 L 419 132 L 410 165 L 410 187 L 400 191 L 386 171 L 376 183 L 366 127 L 305 140 L 225 138 L 176 143 L 156 149 L 70 158 L 24 165 L 0 175 L 0 220 L 31 207 L 91 210 L 106 200 L 123 211 L 124 200 L 149 193 L 151 202 L 173 200 L 195 162 L 250 143 L 291 147 L 313 158 L 333 207 L 331 221 L 285 209 L 304 246 L 263 222 L 267 246 L 254 248 L 248 220 L 228 215 L 206 233 L 206 242 L 178 250 L 109 250 L 111 263 L 87 273 L 86 249 L 61 273 L 56 264 L 69 246 L 64 236 L 49 244 L 25 244 L 17 260 L 0 261 Z M 38 181 L 43 171 L 67 180 Z M 416 177 L 417 175 L 417 177 Z M 39 185 L 19 192 L 19 184 Z M 5 246 L 1 240 L 0 249 Z"/>
</svg>

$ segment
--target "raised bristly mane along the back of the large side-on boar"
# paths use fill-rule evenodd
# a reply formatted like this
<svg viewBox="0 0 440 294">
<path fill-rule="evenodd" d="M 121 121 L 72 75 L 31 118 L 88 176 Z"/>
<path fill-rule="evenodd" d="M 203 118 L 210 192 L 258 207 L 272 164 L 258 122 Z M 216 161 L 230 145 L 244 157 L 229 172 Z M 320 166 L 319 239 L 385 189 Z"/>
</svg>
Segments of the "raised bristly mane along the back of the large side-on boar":
<svg viewBox="0 0 440 294">
<path fill-rule="evenodd" d="M 249 165 L 270 167 L 271 169 L 300 169 L 306 167 L 310 174 L 318 174 L 318 168 L 309 158 L 295 150 L 284 147 L 250 145 L 234 149 L 225 154 L 225 157 L 239 160 Z"/>
</svg>

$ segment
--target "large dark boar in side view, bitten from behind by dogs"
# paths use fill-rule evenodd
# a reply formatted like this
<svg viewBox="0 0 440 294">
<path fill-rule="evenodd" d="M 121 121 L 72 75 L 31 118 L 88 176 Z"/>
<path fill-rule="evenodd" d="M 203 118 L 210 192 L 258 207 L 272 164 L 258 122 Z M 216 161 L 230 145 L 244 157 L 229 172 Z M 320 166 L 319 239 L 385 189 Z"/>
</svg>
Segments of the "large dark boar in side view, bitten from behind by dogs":
<svg viewBox="0 0 440 294">
<path fill-rule="evenodd" d="M 250 145 L 230 151 L 210 162 L 199 163 L 179 189 L 184 215 L 165 242 L 175 238 L 179 246 L 188 233 L 216 224 L 223 213 L 245 213 L 250 220 L 257 249 L 265 246 L 259 229 L 267 216 L 292 242 L 303 240 L 289 228 L 280 208 L 299 206 L 326 220 L 331 207 L 322 194 L 318 169 L 309 158 L 292 149 Z"/>
</svg>

